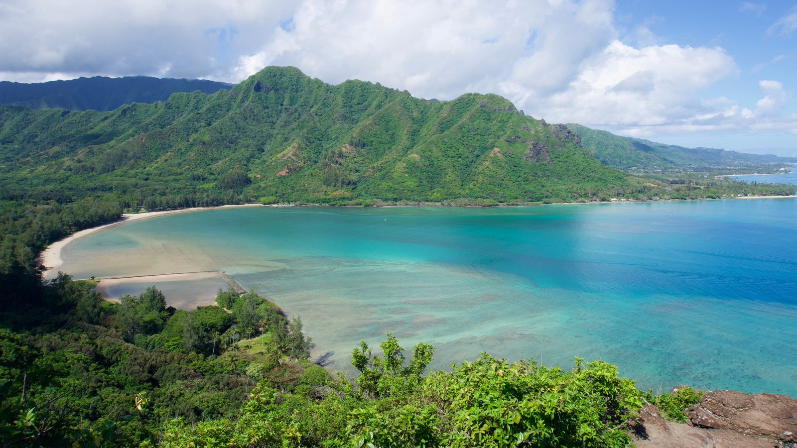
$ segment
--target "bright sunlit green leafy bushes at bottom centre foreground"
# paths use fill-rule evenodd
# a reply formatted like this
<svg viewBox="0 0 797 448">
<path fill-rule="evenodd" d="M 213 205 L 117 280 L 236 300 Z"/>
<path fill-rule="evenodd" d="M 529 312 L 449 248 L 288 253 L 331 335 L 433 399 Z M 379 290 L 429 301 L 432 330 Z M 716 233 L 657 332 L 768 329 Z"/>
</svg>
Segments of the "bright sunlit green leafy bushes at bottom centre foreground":
<svg viewBox="0 0 797 448">
<path fill-rule="evenodd" d="M 634 381 L 603 361 L 576 358 L 564 371 L 482 354 L 422 377 L 431 346 L 418 344 L 406 364 L 395 338 L 382 348 L 383 357 L 355 349 L 357 389 L 339 377 L 314 401 L 261 382 L 239 419 L 171 420 L 159 446 L 625 447 L 626 423 L 642 407 Z"/>
</svg>

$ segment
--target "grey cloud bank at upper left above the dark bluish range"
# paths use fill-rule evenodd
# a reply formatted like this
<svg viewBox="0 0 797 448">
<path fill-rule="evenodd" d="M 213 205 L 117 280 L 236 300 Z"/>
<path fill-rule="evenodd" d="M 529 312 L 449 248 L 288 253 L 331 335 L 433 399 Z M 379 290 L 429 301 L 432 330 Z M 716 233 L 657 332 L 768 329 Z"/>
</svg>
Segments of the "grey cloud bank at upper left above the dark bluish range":
<svg viewBox="0 0 797 448">
<path fill-rule="evenodd" d="M 289 12 L 278 0 L 5 0 L 0 72 L 210 77 Z"/>
</svg>

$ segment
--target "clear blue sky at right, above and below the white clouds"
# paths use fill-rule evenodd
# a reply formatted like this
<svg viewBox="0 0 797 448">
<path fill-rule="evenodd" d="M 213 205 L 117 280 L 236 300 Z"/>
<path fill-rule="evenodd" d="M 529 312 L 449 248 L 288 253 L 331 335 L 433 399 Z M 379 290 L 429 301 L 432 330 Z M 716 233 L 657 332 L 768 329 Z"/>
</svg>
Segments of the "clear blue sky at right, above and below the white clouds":
<svg viewBox="0 0 797 448">
<path fill-rule="evenodd" d="M 759 81 L 775 80 L 791 96 L 781 112 L 797 112 L 797 33 L 792 22 L 783 18 L 797 14 L 797 2 L 686 2 L 673 0 L 619 1 L 615 17 L 629 45 L 676 44 L 693 47 L 720 47 L 738 66 L 735 75 L 724 77 L 701 89 L 709 96 L 726 96 L 741 107 L 755 109 L 763 96 Z M 789 31 L 791 23 L 791 32 Z M 650 30 L 653 41 L 640 42 L 638 28 Z M 644 40 L 644 36 L 642 37 Z M 782 155 L 797 149 L 797 135 L 788 132 L 687 132 L 659 140 L 688 146 L 713 146 L 755 151 L 779 151 Z M 788 154 L 791 155 L 791 152 Z"/>
</svg>

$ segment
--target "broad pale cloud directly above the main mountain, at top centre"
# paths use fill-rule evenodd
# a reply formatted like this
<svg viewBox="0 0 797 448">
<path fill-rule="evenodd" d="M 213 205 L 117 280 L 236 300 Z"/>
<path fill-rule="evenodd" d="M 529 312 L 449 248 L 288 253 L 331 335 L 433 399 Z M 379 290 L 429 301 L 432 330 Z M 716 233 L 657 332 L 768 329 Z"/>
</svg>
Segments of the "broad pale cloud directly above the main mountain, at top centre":
<svg viewBox="0 0 797 448">
<path fill-rule="evenodd" d="M 332 83 L 356 78 L 451 98 L 505 76 L 532 30 L 571 8 L 557 3 L 308 0 L 293 14 L 295 28 L 276 29 L 236 73 L 251 73 L 252 61 L 296 65 Z"/>
</svg>

